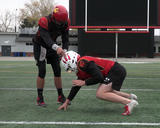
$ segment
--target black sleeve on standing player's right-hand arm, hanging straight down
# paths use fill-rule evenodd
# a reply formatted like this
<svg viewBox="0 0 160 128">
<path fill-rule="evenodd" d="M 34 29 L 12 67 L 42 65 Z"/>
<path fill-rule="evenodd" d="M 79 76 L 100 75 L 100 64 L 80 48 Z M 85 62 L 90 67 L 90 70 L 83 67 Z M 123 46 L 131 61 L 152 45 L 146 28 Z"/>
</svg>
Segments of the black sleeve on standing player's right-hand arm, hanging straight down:
<svg viewBox="0 0 160 128">
<path fill-rule="evenodd" d="M 68 44 L 69 44 L 69 31 L 65 30 L 62 33 L 62 48 L 68 50 Z"/>
</svg>

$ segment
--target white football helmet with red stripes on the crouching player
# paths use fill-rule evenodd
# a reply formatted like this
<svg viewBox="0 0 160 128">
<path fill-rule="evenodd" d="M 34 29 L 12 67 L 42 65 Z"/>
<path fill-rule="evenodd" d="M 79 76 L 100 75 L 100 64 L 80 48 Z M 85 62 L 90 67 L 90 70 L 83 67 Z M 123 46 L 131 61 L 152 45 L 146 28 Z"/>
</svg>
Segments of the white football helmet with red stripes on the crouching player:
<svg viewBox="0 0 160 128">
<path fill-rule="evenodd" d="M 73 71 L 77 70 L 77 60 L 80 55 L 74 51 L 68 51 L 65 53 L 66 56 L 62 57 L 61 64 L 66 71 Z"/>
</svg>

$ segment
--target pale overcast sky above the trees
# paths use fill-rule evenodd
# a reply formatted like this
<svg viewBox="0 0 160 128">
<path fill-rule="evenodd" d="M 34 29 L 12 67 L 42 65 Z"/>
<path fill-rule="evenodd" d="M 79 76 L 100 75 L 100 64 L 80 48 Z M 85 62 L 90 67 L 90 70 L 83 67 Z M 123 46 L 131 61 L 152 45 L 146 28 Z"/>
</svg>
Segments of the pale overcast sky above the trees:
<svg viewBox="0 0 160 128">
<path fill-rule="evenodd" d="M 15 11 L 24 7 L 24 4 L 31 0 L 0 0 L 0 13 L 6 10 Z M 67 9 L 69 8 L 69 0 L 55 0 L 57 4 L 64 5 Z"/>
</svg>

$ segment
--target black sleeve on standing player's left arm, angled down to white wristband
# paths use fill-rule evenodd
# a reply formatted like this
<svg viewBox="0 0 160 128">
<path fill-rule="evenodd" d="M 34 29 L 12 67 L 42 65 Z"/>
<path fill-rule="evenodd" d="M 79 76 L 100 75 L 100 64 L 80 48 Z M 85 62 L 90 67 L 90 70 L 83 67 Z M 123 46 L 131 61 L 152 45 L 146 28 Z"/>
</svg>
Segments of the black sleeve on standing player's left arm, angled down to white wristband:
<svg viewBox="0 0 160 128">
<path fill-rule="evenodd" d="M 46 29 L 39 27 L 39 32 L 40 32 L 41 38 L 44 40 L 44 42 L 48 48 L 53 48 L 53 45 L 56 45 L 56 42 L 54 42 L 51 39 L 49 32 Z M 54 49 L 54 50 L 56 50 L 56 49 Z"/>
</svg>

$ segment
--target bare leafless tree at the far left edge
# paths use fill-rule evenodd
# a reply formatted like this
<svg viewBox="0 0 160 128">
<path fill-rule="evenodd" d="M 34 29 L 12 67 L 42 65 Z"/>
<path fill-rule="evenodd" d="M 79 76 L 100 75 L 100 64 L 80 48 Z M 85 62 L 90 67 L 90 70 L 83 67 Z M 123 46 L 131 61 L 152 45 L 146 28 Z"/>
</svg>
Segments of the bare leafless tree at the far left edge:
<svg viewBox="0 0 160 128">
<path fill-rule="evenodd" d="M 6 10 L 5 13 L 0 15 L 0 31 L 10 32 L 13 31 L 14 14 Z"/>
</svg>

